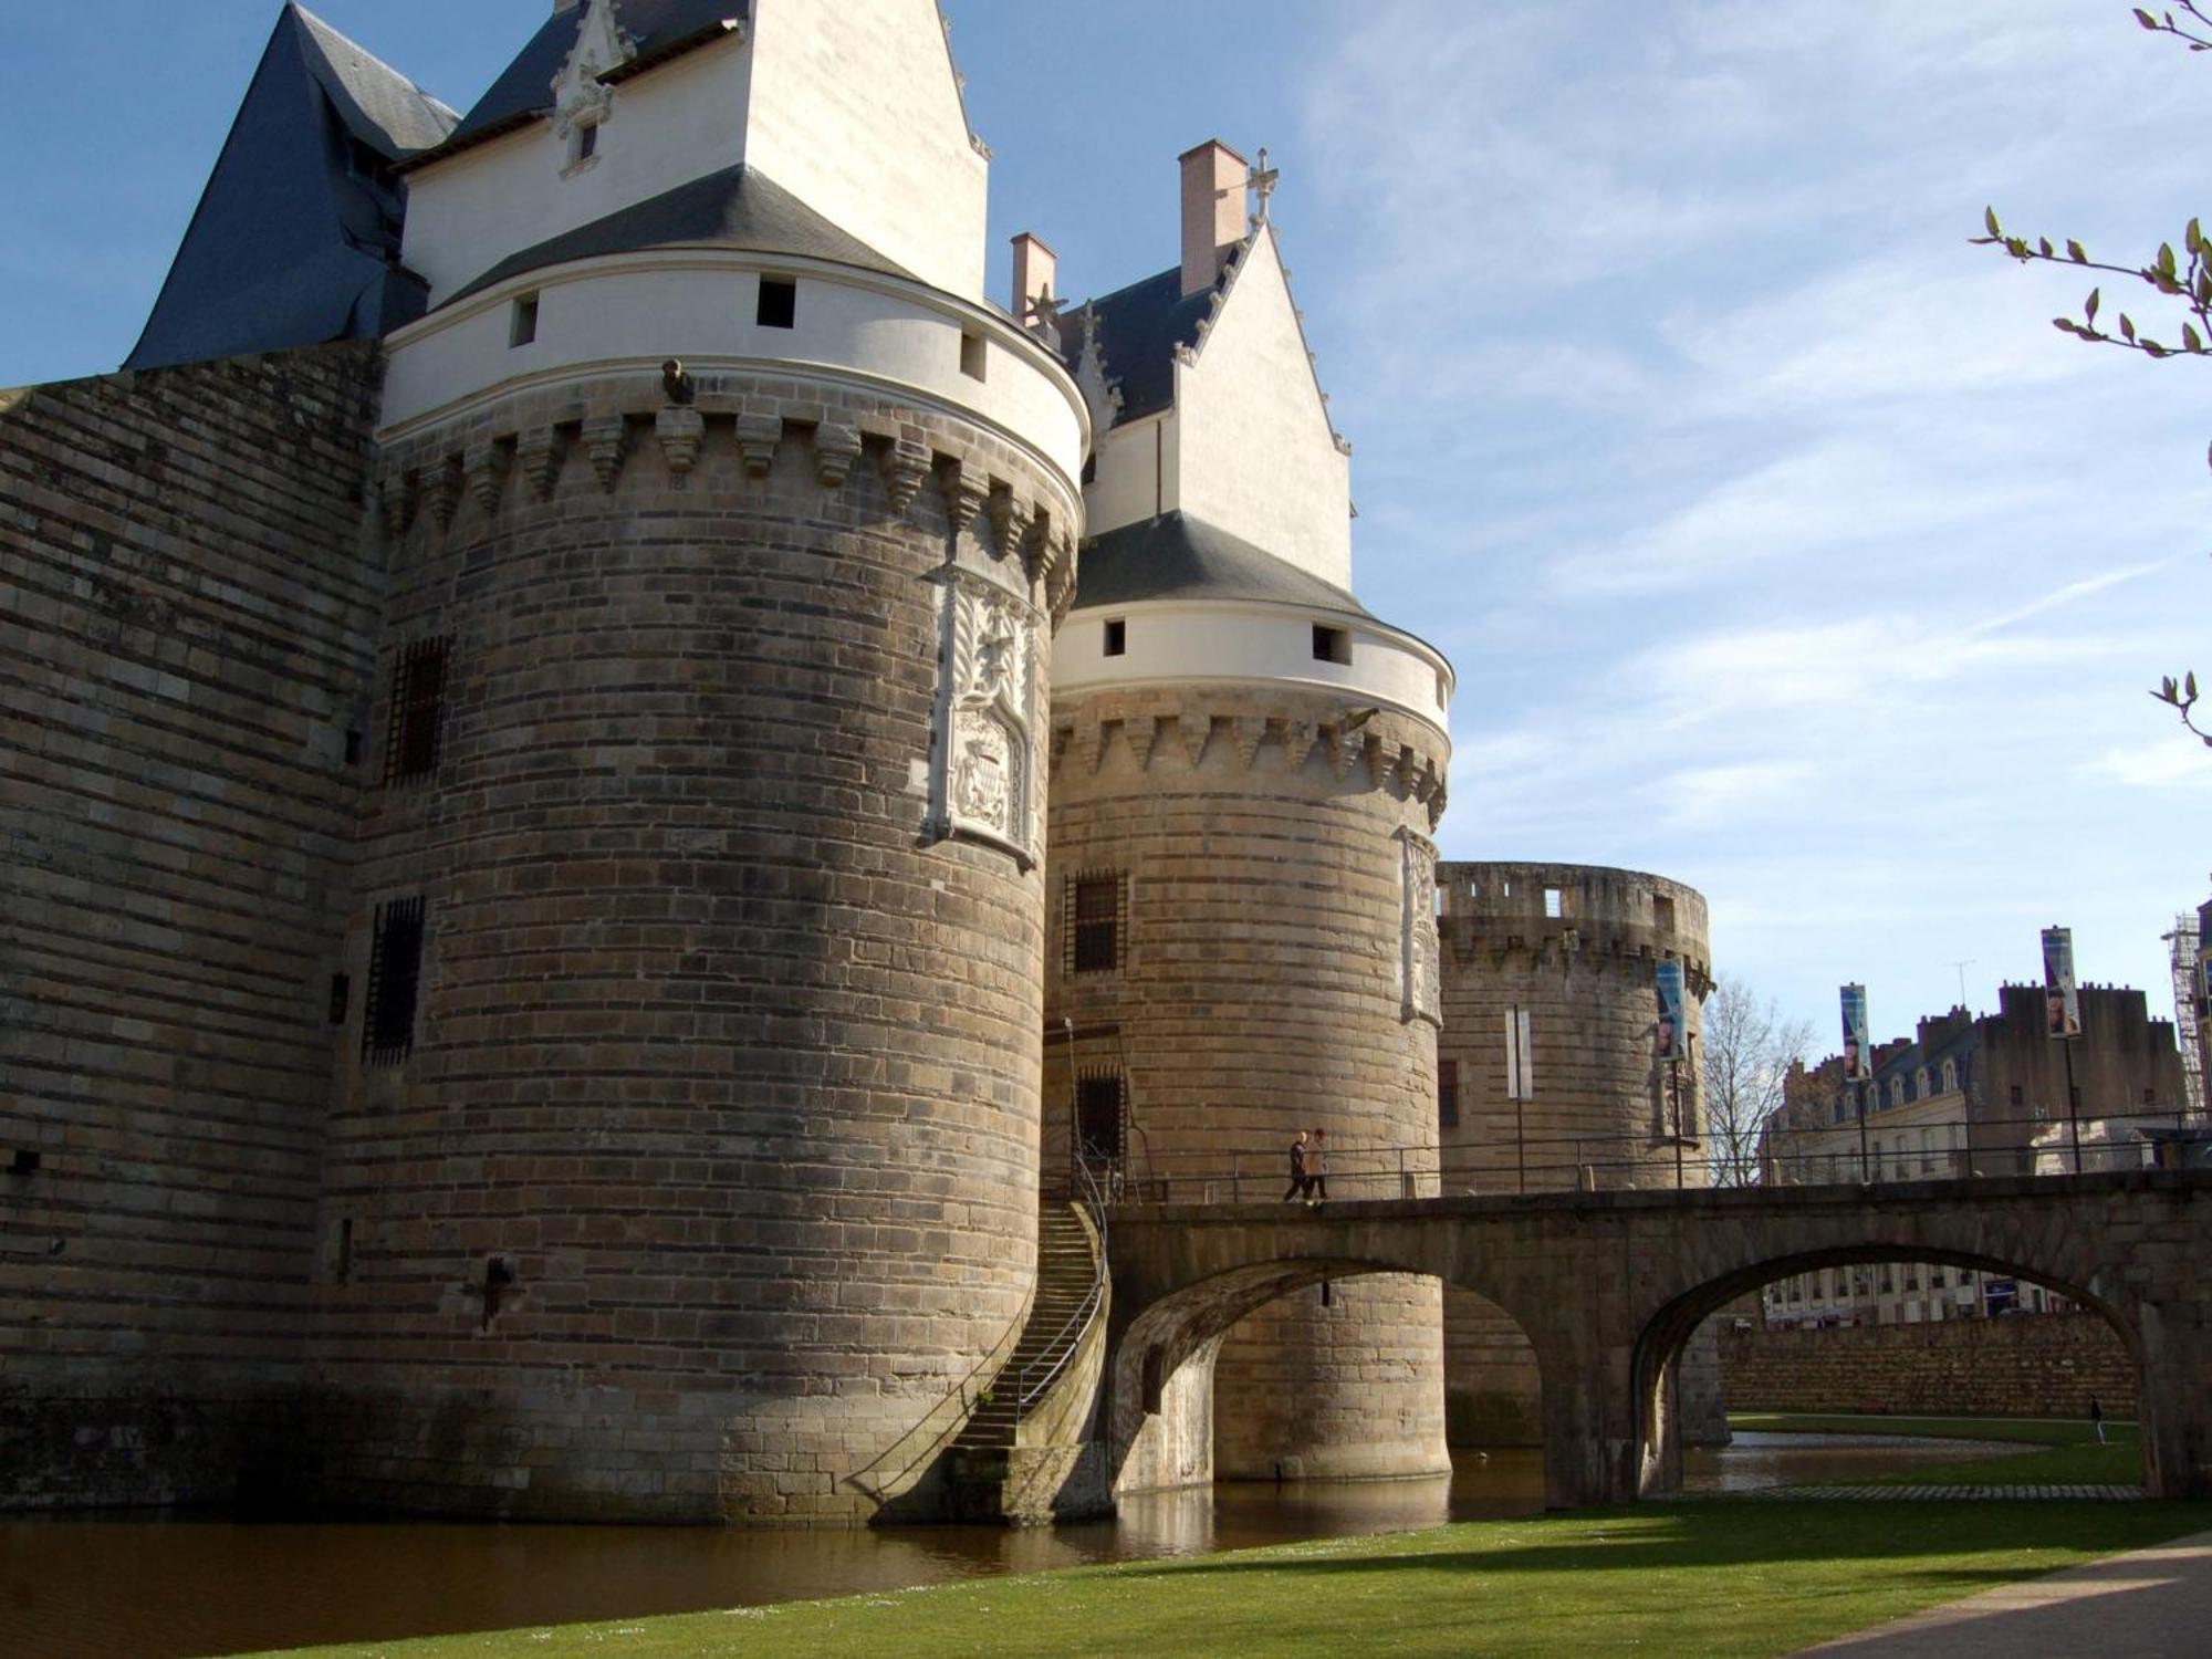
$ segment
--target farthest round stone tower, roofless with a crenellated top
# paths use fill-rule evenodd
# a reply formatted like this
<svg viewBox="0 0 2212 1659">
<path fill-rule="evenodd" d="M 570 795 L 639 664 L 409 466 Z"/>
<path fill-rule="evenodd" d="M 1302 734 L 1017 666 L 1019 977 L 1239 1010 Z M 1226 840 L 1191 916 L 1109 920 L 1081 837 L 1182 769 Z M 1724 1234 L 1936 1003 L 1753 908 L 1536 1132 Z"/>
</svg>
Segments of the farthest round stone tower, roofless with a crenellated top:
<svg viewBox="0 0 2212 1659">
<path fill-rule="evenodd" d="M 1531 863 L 1444 863 L 1436 889 L 1444 1190 L 1703 1186 L 1703 896 L 1632 869 Z M 1659 962 L 1683 971 L 1672 1064 L 1655 1053 Z M 1513 1321 L 1447 1290 L 1444 1347 L 1453 1444 L 1537 1444 L 1535 1354 Z M 1708 1420 L 1712 1387 L 1686 1385 L 1705 1400 L 1692 1422 Z"/>
</svg>

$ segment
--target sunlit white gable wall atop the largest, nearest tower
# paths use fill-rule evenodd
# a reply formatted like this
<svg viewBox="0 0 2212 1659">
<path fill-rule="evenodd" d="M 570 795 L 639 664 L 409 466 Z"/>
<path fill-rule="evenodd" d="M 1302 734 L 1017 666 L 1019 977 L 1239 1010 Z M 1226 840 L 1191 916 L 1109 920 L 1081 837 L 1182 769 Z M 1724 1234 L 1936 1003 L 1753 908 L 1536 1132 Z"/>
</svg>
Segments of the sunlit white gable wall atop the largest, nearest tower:
<svg viewBox="0 0 2212 1659">
<path fill-rule="evenodd" d="M 991 166 L 969 142 L 936 0 L 759 0 L 752 35 L 745 159 L 980 303 Z"/>
</svg>

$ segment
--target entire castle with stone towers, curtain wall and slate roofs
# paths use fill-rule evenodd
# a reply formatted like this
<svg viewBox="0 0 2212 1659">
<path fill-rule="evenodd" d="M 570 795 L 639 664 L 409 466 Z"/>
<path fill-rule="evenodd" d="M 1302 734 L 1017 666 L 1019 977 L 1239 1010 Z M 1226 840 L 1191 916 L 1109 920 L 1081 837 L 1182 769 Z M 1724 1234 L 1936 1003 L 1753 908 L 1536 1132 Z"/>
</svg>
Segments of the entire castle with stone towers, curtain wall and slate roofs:
<svg viewBox="0 0 2212 1659">
<path fill-rule="evenodd" d="M 283 7 L 126 372 L 0 409 L 0 1504 L 1051 1511 L 1526 1383 L 1239 1283 L 1091 1455 L 1062 1194 L 1433 1192 L 1500 1015 L 1520 1137 L 1672 1170 L 1708 975 L 1621 872 L 1469 931 L 1270 177 L 1179 166 L 1000 307 L 929 0 L 557 0 L 467 113 Z"/>
</svg>

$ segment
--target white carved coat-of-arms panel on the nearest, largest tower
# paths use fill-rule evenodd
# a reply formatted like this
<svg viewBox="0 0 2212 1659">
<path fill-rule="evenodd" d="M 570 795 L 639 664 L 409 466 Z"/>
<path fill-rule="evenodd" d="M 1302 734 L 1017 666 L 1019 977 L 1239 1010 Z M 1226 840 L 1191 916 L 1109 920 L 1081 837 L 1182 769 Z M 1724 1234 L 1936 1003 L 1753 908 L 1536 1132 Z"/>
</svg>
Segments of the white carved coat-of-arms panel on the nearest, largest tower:
<svg viewBox="0 0 2212 1659">
<path fill-rule="evenodd" d="M 1044 615 L 978 571 L 947 564 L 938 730 L 931 745 L 936 832 L 1011 852 L 1031 869 L 1044 845 L 1037 710 Z"/>
</svg>

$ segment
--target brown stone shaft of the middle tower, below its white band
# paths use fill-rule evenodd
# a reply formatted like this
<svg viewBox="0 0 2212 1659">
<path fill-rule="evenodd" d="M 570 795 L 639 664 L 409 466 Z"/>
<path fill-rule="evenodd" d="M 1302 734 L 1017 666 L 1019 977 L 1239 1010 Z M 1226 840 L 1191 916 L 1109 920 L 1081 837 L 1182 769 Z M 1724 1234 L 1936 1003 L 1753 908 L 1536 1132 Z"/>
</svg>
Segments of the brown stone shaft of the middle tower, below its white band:
<svg viewBox="0 0 2212 1659">
<path fill-rule="evenodd" d="M 1310 1126 L 1329 1130 L 1332 1197 L 1433 1190 L 1422 975 L 1442 739 L 1398 714 L 1347 728 L 1345 712 L 1237 686 L 1062 697 L 1048 1175 L 1071 1157 L 1073 1055 L 1082 1077 L 1121 1077 L 1137 1190 L 1230 1199 L 1241 1170 L 1241 1197 L 1281 1199 L 1285 1148 Z M 1102 874 L 1121 887 L 1117 962 L 1075 971 L 1075 885 Z M 1413 987 L 1409 938 L 1427 951 Z M 1212 1398 L 1212 1464 L 1181 1464 L 1197 1480 L 1444 1469 L 1440 1287 L 1365 1276 L 1327 1305 L 1276 1301 L 1221 1343 Z"/>
</svg>

